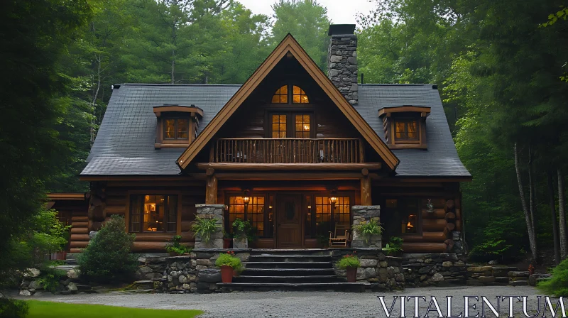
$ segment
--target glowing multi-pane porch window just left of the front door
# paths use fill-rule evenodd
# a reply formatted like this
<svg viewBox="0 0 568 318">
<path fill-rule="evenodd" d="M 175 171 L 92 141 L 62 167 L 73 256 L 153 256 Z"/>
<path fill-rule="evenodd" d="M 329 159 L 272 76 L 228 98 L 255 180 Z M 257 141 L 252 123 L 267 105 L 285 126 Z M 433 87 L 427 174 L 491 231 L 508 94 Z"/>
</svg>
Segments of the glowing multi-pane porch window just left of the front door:
<svg viewBox="0 0 568 318">
<path fill-rule="evenodd" d="M 243 197 L 229 197 L 229 229 L 235 219 L 251 221 L 257 236 L 264 236 L 264 207 L 265 198 L 251 197 L 249 204 L 244 204 Z"/>
</svg>

